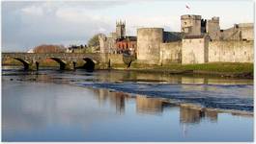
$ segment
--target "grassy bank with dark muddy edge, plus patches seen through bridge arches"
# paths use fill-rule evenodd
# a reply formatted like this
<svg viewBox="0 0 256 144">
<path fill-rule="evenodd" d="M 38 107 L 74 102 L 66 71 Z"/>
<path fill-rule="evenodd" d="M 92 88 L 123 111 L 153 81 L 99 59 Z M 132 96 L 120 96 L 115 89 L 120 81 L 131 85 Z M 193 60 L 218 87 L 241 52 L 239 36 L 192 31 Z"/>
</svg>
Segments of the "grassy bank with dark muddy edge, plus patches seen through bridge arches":
<svg viewBox="0 0 256 144">
<path fill-rule="evenodd" d="M 7 60 L 3 65 L 22 65 L 17 60 Z M 78 61 L 76 66 L 82 66 L 84 61 Z M 54 60 L 43 60 L 40 66 L 56 66 L 59 63 Z M 107 66 L 96 65 L 96 69 L 104 69 Z M 166 65 L 140 64 L 136 61 L 132 62 L 129 67 L 126 64 L 111 63 L 112 69 L 132 70 L 151 73 L 167 73 L 167 74 L 197 74 L 197 75 L 213 75 L 220 77 L 236 77 L 236 78 L 253 78 L 253 63 L 239 62 L 211 62 L 203 64 L 181 64 L 171 63 Z"/>
</svg>

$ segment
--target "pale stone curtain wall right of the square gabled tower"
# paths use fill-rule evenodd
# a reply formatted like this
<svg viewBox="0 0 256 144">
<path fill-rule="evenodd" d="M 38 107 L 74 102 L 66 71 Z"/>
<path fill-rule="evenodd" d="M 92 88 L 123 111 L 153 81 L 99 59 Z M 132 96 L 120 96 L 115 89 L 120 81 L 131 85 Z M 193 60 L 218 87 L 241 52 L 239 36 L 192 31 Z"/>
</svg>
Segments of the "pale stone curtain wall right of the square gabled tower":
<svg viewBox="0 0 256 144">
<path fill-rule="evenodd" d="M 253 41 L 211 41 L 209 62 L 253 62 Z"/>
</svg>

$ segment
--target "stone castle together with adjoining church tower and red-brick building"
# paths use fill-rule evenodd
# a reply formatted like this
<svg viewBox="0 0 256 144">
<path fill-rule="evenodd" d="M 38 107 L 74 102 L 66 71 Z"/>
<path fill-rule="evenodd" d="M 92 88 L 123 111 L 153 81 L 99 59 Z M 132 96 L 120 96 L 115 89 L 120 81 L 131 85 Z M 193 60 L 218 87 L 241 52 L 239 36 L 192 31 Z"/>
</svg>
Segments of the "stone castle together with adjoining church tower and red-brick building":
<svg viewBox="0 0 256 144">
<path fill-rule="evenodd" d="M 137 36 L 126 36 L 125 23 L 118 22 L 116 33 L 100 36 L 101 53 L 136 55 L 138 63 L 253 62 L 253 23 L 235 24 L 221 30 L 219 17 L 181 16 L 181 32 L 162 28 L 139 28 Z"/>
</svg>

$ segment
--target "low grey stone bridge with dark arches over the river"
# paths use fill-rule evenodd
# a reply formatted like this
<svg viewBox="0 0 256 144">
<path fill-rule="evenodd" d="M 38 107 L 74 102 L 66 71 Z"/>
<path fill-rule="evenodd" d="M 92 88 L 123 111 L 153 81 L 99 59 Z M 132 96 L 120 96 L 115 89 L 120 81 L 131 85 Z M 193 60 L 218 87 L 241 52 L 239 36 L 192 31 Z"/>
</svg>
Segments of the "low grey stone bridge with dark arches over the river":
<svg viewBox="0 0 256 144">
<path fill-rule="evenodd" d="M 2 53 L 2 61 L 18 60 L 23 63 L 24 70 L 38 70 L 42 60 L 55 60 L 60 69 L 75 69 L 78 61 L 83 61 L 86 70 L 94 70 L 95 66 L 110 67 L 111 63 L 124 63 L 121 54 L 80 54 L 80 53 Z M 81 62 L 80 62 L 81 63 Z"/>
</svg>

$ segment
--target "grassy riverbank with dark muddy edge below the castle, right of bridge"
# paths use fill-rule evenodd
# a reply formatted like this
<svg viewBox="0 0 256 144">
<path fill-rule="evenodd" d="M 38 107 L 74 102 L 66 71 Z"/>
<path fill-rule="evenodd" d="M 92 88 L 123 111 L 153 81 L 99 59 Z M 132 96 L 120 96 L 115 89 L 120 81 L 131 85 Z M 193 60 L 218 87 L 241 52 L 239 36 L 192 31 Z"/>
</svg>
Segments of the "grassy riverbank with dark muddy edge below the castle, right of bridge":
<svg viewBox="0 0 256 144">
<path fill-rule="evenodd" d="M 152 65 L 132 63 L 128 68 L 122 64 L 112 65 L 112 69 L 164 73 L 170 75 L 211 75 L 229 78 L 253 79 L 253 63 L 213 62 L 203 64 Z"/>
</svg>

